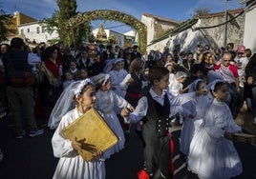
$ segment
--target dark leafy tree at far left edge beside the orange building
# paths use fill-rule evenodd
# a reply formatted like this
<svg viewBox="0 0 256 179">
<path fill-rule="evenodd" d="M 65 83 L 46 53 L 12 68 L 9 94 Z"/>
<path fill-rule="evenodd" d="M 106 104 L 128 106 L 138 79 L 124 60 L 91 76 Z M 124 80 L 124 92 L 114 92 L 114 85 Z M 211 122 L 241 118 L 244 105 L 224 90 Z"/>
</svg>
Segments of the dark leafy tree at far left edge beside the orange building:
<svg viewBox="0 0 256 179">
<path fill-rule="evenodd" d="M 13 24 L 11 22 L 11 18 L 11 14 L 7 14 L 4 10 L 2 10 L 0 2 L 0 42 L 8 40 L 8 34 L 15 32 L 15 30 L 8 28 Z"/>
</svg>

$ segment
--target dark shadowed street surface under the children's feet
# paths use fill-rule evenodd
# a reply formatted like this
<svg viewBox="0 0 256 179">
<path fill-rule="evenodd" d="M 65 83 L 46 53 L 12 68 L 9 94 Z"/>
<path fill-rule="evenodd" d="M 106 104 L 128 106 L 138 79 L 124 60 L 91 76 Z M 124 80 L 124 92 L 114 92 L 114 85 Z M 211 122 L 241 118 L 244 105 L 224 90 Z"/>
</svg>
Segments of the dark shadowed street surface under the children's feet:
<svg viewBox="0 0 256 179">
<path fill-rule="evenodd" d="M 1 119 L 0 147 L 5 152 L 4 161 L 0 164 L 1 179 L 52 178 L 58 161 L 53 157 L 51 146 L 53 130 L 45 127 L 46 120 L 38 120 L 38 123 L 46 130 L 43 135 L 34 138 L 25 136 L 22 140 L 16 140 L 11 135 L 10 121 Z M 175 138 L 179 133 L 178 128 L 174 132 Z M 244 173 L 236 179 L 256 179 L 256 147 L 244 143 L 235 143 L 235 146 L 244 166 Z M 183 159 L 179 153 L 176 153 L 174 160 L 175 179 L 192 179 L 190 173 L 184 168 Z M 106 161 L 107 179 L 136 179 L 136 174 L 141 168 L 142 144 L 133 129 L 126 148 Z"/>
</svg>

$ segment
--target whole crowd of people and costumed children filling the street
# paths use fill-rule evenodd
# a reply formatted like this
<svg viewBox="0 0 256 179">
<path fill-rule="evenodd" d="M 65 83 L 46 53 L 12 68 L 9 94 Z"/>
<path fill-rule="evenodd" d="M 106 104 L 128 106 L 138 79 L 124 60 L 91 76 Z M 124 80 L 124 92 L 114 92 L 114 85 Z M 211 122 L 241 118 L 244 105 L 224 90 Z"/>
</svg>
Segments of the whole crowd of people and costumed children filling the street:
<svg viewBox="0 0 256 179">
<path fill-rule="evenodd" d="M 242 132 L 234 119 L 244 102 L 248 112 L 256 111 L 256 55 L 243 45 L 147 53 L 138 46 L 75 49 L 61 42 L 30 48 L 14 37 L 11 45 L 1 45 L 0 54 L 0 110 L 11 114 L 16 139 L 41 135 L 34 116 L 49 117 L 53 153 L 60 158 L 53 178 L 105 178 L 104 161 L 125 148 L 132 125 L 144 148 L 139 179 L 173 178 L 169 129 L 176 125 L 182 126 L 186 167 L 200 178 L 231 178 L 243 171 L 228 140 Z M 96 158 L 85 162 L 77 153 L 81 144 L 65 139 L 61 130 L 91 108 L 118 142 L 105 152 L 96 149 Z M 67 167 L 70 172 L 62 172 Z"/>
</svg>

